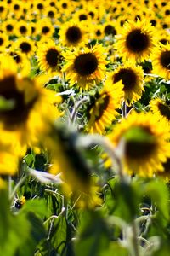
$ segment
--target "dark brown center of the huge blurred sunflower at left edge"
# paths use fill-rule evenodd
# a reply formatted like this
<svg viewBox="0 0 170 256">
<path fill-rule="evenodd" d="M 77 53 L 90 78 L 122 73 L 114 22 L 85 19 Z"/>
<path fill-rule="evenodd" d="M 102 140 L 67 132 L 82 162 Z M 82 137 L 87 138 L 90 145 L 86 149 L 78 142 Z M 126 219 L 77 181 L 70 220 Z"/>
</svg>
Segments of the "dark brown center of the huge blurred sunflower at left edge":
<svg viewBox="0 0 170 256">
<path fill-rule="evenodd" d="M 0 109 L 0 119 L 3 120 L 7 130 L 18 128 L 18 125 L 26 122 L 31 108 L 37 101 L 37 96 L 35 96 L 31 102 L 26 103 L 25 93 L 17 89 L 16 79 L 13 75 L 0 80 L 0 96 L 7 101 L 14 101 L 13 108 Z"/>
</svg>

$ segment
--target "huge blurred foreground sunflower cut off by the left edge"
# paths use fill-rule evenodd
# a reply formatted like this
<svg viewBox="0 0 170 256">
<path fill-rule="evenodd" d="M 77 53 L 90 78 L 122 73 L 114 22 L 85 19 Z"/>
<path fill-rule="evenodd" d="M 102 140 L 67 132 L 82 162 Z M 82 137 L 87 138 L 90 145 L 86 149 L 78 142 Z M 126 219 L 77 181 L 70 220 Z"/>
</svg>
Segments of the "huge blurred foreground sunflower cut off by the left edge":
<svg viewBox="0 0 170 256">
<path fill-rule="evenodd" d="M 0 96 L 8 107 L 0 109 L 0 128 L 9 136 L 14 134 L 22 146 L 36 142 L 37 133 L 46 129 L 44 121 L 59 116 L 54 107 L 59 100 L 53 91 L 42 88 L 43 77 L 27 79 L 18 75 L 12 57 L 2 55 L 0 67 Z"/>
</svg>

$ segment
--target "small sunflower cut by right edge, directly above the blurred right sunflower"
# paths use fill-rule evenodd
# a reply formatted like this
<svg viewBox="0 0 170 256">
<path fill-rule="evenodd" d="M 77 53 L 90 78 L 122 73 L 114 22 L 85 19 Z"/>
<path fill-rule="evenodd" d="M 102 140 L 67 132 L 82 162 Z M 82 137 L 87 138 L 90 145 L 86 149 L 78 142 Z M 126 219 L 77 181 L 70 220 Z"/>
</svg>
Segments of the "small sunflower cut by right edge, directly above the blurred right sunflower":
<svg viewBox="0 0 170 256">
<path fill-rule="evenodd" d="M 159 98 L 152 99 L 150 110 L 157 115 L 158 119 L 164 119 L 167 125 L 170 125 L 170 106 L 165 100 Z"/>
</svg>

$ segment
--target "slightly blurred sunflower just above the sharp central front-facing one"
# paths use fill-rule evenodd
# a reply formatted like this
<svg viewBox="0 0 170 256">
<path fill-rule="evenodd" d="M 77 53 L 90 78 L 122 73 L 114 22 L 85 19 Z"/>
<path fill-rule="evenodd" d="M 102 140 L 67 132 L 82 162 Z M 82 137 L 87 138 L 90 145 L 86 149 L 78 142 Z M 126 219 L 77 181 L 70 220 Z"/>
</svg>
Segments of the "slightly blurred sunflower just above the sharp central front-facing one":
<svg viewBox="0 0 170 256">
<path fill-rule="evenodd" d="M 68 47 L 83 46 L 88 43 L 85 27 L 73 20 L 65 22 L 59 30 L 59 42 Z"/>
</svg>

